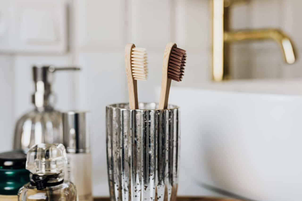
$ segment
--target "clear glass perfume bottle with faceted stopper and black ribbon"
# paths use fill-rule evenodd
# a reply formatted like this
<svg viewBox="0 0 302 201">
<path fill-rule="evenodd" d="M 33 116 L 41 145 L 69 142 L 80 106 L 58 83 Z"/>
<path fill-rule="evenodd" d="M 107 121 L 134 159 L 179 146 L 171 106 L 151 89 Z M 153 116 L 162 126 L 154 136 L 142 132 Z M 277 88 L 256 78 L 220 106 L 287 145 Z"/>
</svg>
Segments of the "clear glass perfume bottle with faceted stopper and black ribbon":
<svg viewBox="0 0 302 201">
<path fill-rule="evenodd" d="M 76 187 L 64 181 L 66 149 L 62 144 L 38 144 L 27 152 L 30 182 L 20 188 L 18 201 L 76 201 Z"/>
</svg>

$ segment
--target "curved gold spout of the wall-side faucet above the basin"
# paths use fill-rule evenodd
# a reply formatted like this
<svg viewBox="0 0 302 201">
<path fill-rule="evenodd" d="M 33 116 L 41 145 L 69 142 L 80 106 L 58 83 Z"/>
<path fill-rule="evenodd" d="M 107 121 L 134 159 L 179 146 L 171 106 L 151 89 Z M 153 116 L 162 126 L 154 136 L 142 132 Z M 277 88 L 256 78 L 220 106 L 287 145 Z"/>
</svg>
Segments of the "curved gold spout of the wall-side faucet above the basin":
<svg viewBox="0 0 302 201">
<path fill-rule="evenodd" d="M 282 51 L 285 62 L 293 64 L 297 57 L 291 39 L 279 29 L 255 29 L 255 30 L 236 30 L 224 32 L 224 42 L 236 42 L 243 40 L 267 40 L 276 41 Z"/>
</svg>

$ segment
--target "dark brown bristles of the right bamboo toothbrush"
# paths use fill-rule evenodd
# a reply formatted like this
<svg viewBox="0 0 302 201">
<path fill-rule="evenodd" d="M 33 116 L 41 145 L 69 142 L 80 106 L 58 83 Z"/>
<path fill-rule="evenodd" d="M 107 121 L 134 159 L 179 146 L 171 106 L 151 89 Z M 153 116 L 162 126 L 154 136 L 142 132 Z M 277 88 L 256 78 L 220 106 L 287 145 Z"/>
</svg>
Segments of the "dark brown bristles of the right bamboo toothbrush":
<svg viewBox="0 0 302 201">
<path fill-rule="evenodd" d="M 185 73 L 185 63 L 187 59 L 187 53 L 184 49 L 174 47 L 172 49 L 169 67 L 168 67 L 168 78 L 175 81 L 182 81 L 182 77 Z"/>
</svg>

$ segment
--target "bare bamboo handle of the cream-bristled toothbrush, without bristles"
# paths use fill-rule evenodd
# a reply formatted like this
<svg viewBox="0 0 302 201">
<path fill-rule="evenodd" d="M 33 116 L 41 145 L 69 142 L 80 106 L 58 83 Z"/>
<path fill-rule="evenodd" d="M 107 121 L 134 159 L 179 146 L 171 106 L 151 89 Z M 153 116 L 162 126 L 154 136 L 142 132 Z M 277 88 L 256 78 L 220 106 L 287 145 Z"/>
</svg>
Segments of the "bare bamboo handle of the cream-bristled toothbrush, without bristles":
<svg viewBox="0 0 302 201">
<path fill-rule="evenodd" d="M 129 108 L 138 109 L 138 99 L 137 99 L 137 80 L 133 79 L 132 68 L 131 68 L 131 50 L 135 45 L 133 43 L 127 43 L 125 48 L 125 66 L 128 81 L 128 91 L 129 91 Z"/>
</svg>

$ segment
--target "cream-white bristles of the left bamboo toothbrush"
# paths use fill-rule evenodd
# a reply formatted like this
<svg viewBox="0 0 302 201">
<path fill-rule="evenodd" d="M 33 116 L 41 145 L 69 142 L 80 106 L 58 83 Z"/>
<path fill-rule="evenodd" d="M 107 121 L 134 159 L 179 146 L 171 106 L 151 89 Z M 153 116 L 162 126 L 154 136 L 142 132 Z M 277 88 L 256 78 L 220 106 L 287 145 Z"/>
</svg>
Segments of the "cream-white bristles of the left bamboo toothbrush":
<svg viewBox="0 0 302 201">
<path fill-rule="evenodd" d="M 131 52 L 132 76 L 135 80 L 147 80 L 148 65 L 145 48 L 134 47 Z"/>
</svg>

